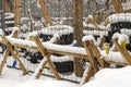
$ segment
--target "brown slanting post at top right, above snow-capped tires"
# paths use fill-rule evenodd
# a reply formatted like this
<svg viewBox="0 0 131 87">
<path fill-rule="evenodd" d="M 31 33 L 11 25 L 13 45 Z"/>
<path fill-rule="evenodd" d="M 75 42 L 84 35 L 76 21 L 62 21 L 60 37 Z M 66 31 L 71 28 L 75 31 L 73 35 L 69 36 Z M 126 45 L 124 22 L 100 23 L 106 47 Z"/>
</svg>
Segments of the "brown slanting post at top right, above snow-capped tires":
<svg viewBox="0 0 131 87">
<path fill-rule="evenodd" d="M 120 0 L 111 0 L 111 2 L 116 13 L 123 13 L 123 8 Z"/>
</svg>

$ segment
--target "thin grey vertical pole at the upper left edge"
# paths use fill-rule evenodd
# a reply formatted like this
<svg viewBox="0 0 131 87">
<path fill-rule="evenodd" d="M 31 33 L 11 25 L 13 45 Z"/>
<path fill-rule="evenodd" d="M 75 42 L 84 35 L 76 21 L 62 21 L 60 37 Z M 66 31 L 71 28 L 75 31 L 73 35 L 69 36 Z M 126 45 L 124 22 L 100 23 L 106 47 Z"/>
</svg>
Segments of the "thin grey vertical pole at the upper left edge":
<svg viewBox="0 0 131 87">
<path fill-rule="evenodd" d="M 5 23 L 4 23 L 4 0 L 0 0 L 0 10 L 1 10 L 1 28 L 4 32 Z"/>
</svg>

